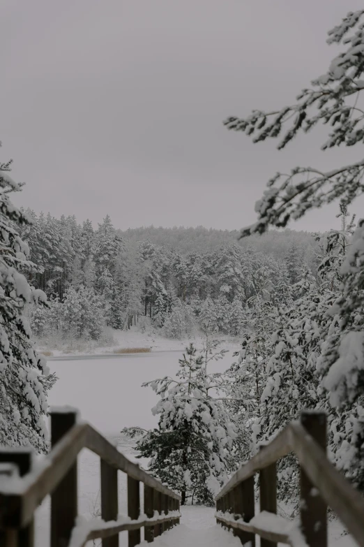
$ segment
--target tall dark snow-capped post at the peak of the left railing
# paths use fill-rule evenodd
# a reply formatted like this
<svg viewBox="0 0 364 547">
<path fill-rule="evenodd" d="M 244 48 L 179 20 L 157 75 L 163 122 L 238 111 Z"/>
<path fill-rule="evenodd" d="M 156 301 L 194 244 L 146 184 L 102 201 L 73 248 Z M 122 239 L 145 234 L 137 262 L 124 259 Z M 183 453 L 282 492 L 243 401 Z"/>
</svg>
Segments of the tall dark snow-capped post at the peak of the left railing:
<svg viewBox="0 0 364 547">
<path fill-rule="evenodd" d="M 51 411 L 51 442 L 54 445 L 73 428 L 77 412 L 67 408 Z M 77 462 L 51 495 L 51 547 L 66 547 L 77 517 Z"/>
</svg>

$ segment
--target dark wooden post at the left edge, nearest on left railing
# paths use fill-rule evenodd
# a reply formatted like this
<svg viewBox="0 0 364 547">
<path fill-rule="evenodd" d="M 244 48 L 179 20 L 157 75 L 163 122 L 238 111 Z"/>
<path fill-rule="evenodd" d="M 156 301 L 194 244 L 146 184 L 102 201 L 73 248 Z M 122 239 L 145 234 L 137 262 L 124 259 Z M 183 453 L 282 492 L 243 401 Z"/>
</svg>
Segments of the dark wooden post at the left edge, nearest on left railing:
<svg viewBox="0 0 364 547">
<path fill-rule="evenodd" d="M 5 449 L 0 452 L 0 463 L 12 463 L 17 465 L 20 476 L 24 476 L 31 471 L 33 450 L 29 448 L 17 448 L 12 452 L 11 449 Z M 9 469 L 10 476 L 10 469 Z M 18 530 L 8 528 L 4 532 L 0 531 L 0 545 L 5 547 L 33 547 L 34 546 L 34 520 L 24 528 Z"/>
</svg>

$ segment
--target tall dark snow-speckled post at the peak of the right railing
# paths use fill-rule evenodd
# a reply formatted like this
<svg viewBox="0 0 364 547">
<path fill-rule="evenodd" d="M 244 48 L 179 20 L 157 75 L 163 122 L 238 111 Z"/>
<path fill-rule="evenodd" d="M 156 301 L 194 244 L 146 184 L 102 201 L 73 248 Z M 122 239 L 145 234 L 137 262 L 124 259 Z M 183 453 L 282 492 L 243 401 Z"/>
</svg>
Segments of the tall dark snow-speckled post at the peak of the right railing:
<svg viewBox="0 0 364 547">
<path fill-rule="evenodd" d="M 326 453 L 326 415 L 323 412 L 302 412 L 301 424 Z M 317 488 L 300 467 L 301 530 L 308 547 L 327 546 L 327 505 Z"/>
</svg>

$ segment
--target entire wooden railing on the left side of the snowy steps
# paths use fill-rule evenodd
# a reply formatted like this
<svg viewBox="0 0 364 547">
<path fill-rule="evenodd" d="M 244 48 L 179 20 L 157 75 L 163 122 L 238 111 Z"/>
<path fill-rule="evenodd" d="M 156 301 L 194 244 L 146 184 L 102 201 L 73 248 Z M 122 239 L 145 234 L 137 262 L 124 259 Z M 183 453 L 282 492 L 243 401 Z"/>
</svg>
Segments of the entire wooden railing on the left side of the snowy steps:
<svg viewBox="0 0 364 547">
<path fill-rule="evenodd" d="M 139 465 L 130 462 L 88 423 L 77 423 L 73 409 L 51 413 L 52 451 L 31 469 L 31 451 L 0 449 L 0 547 L 34 546 L 34 511 L 51 495 L 51 547 L 83 547 L 102 538 L 103 547 L 118 547 L 128 530 L 129 547 L 148 542 L 179 524 L 180 497 Z M 100 456 L 101 518 L 77 525 L 77 455 L 89 448 Z M 118 470 L 128 476 L 128 515 L 118 516 Z M 17 476 L 18 475 L 18 476 Z M 139 483 L 144 484 L 140 515 Z"/>
</svg>

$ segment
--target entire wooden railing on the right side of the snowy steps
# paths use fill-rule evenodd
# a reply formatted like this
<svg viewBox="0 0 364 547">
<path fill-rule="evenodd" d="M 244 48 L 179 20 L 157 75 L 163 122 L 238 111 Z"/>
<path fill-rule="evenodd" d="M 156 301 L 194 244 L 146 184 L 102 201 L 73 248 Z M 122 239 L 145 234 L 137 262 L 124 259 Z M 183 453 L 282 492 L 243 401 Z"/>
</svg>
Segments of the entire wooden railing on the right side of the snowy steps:
<svg viewBox="0 0 364 547">
<path fill-rule="evenodd" d="M 300 466 L 300 521 L 298 525 L 277 516 L 276 462 L 290 452 Z M 255 516 L 255 473 L 259 473 L 260 513 Z M 330 506 L 348 532 L 364 547 L 364 500 L 326 457 L 326 416 L 303 412 L 259 453 L 238 469 L 222 488 L 216 501 L 216 519 L 234 530 L 242 544 L 275 547 L 326 547 L 327 507 Z"/>
</svg>

